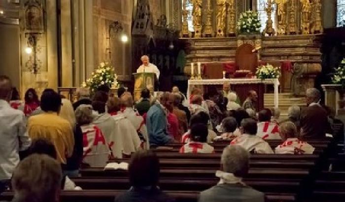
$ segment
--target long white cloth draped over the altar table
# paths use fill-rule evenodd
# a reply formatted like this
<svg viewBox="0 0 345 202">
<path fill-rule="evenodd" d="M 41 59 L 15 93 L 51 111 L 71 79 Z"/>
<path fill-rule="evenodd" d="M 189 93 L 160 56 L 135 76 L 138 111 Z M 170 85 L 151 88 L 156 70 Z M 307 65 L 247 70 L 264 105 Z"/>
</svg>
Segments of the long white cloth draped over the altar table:
<svg viewBox="0 0 345 202">
<path fill-rule="evenodd" d="M 236 84 L 255 84 L 255 83 L 263 83 L 263 84 L 273 84 L 275 88 L 274 92 L 274 102 L 275 107 L 278 107 L 278 87 L 279 87 L 279 80 L 277 78 L 270 78 L 270 79 L 259 79 L 259 78 L 226 78 L 226 79 L 189 79 L 188 80 L 188 88 L 187 88 L 187 99 L 189 103 L 190 93 L 192 86 L 194 85 L 223 85 L 224 83 L 230 83 L 230 85 Z"/>
</svg>

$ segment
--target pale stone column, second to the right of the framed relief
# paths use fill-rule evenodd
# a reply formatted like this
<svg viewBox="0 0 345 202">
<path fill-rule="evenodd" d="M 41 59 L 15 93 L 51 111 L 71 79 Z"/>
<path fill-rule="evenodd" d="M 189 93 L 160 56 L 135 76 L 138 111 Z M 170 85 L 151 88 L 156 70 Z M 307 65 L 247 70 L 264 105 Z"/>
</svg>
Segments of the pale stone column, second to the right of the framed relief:
<svg viewBox="0 0 345 202">
<path fill-rule="evenodd" d="M 72 30 L 70 0 L 61 0 L 61 85 L 73 86 L 72 69 Z"/>
</svg>

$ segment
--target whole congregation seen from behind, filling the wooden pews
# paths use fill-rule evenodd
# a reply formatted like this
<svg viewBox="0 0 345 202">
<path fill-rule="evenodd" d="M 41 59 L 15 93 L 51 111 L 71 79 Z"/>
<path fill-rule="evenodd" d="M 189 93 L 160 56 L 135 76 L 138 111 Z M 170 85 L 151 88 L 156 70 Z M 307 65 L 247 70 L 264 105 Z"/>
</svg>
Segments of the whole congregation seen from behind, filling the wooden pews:
<svg viewBox="0 0 345 202">
<path fill-rule="evenodd" d="M 261 202 L 263 194 L 242 182 L 248 171 L 249 153 L 312 154 L 315 148 L 308 141 L 331 134 L 329 114 L 316 89 L 306 92 L 308 106 L 289 108 L 287 120 L 279 119 L 278 109 L 265 108 L 257 113 L 255 91 L 248 92 L 241 107 L 236 93 L 226 85 L 222 92 L 213 90 L 206 96 L 201 89 L 194 88 L 190 103 L 183 101 L 178 88 L 173 93 L 160 92 L 156 97 L 144 89 L 137 103 L 124 88 L 119 89 L 117 97 L 109 96 L 107 86 L 100 86 L 92 97 L 88 90 L 80 88 L 74 103 L 53 89 L 45 89 L 38 99 L 33 90 L 28 90 L 23 107 L 10 104 L 10 100 L 20 103 L 19 98 L 12 96 L 10 79 L 0 76 L 0 191 L 9 187 L 12 178 L 12 188 L 18 189 L 15 197 L 24 193 L 18 183 L 35 180 L 29 179 L 30 164 L 40 167 L 38 170 L 51 169 L 47 172 L 54 174 L 45 176 L 47 179 L 65 176 L 62 188 L 74 189 L 75 185 L 65 185 L 69 181 L 66 176 L 79 176 L 81 168 L 104 167 L 114 158 L 132 157 L 132 188 L 116 201 L 136 201 L 140 197 L 169 201 L 157 187 L 159 161 L 155 150 L 147 149 L 179 143 L 179 153 L 215 153 L 212 143 L 221 139 L 228 141 L 229 146 L 221 156 L 222 169 L 216 173 L 220 182 L 202 192 L 199 200 L 226 201 L 228 198 L 222 195 L 242 193 L 248 200 L 252 197 Z M 268 139 L 281 140 L 281 144 L 272 149 Z M 29 157 L 20 163 L 19 152 L 29 148 Z M 48 168 L 53 165 L 58 168 Z M 23 173 L 28 174 L 28 179 L 18 178 Z M 60 188 L 61 183 L 55 180 L 50 194 L 56 194 L 55 187 Z"/>
</svg>

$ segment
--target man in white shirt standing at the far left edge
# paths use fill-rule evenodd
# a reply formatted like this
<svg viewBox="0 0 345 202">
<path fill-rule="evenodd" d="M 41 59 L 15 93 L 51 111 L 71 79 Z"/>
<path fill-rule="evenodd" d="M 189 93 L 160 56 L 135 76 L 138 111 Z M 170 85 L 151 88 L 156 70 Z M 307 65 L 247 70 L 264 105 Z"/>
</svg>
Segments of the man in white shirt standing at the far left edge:
<svg viewBox="0 0 345 202">
<path fill-rule="evenodd" d="M 31 144 L 24 113 L 13 109 L 8 103 L 11 94 L 10 79 L 0 75 L 0 192 L 8 186 L 13 170 L 19 163 L 19 151 Z"/>
</svg>

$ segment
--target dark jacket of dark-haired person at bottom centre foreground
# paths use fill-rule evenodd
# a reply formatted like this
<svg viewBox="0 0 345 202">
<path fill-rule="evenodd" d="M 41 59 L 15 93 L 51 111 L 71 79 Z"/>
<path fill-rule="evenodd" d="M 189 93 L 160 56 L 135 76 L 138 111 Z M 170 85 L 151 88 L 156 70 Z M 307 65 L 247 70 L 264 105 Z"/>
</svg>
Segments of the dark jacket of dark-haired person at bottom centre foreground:
<svg viewBox="0 0 345 202">
<path fill-rule="evenodd" d="M 174 200 L 157 188 L 144 190 L 132 187 L 116 197 L 115 202 L 174 202 Z"/>
</svg>

